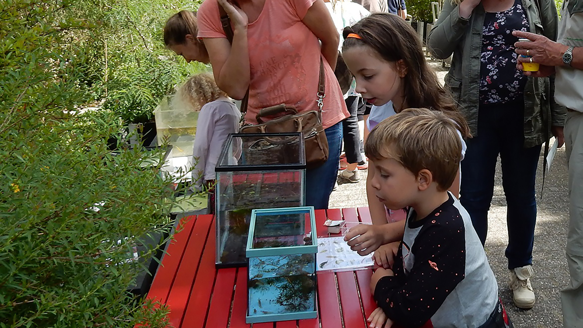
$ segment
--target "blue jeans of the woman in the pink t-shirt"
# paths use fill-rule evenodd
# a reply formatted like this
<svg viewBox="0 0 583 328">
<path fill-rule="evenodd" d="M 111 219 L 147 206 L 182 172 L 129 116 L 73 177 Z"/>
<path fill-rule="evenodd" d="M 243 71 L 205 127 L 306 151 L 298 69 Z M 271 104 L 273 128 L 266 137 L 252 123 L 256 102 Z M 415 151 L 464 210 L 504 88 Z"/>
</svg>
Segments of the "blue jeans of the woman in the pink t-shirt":
<svg viewBox="0 0 583 328">
<path fill-rule="evenodd" d="M 305 170 L 305 205 L 316 210 L 328 208 L 330 194 L 338 176 L 342 122 L 325 130 L 328 139 L 328 160 L 318 168 Z"/>
</svg>

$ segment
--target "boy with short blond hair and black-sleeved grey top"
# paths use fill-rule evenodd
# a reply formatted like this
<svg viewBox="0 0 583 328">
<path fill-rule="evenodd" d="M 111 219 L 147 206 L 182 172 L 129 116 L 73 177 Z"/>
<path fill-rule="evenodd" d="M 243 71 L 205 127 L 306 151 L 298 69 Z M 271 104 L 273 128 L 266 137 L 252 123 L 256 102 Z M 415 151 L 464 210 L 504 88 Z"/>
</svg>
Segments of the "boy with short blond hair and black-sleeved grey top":
<svg viewBox="0 0 583 328">
<path fill-rule="evenodd" d="M 427 109 L 404 110 L 368 135 L 375 195 L 391 210 L 409 208 L 391 269 L 371 279 L 370 327 L 512 327 L 468 212 L 447 191 L 461 147 L 454 121 Z"/>
</svg>

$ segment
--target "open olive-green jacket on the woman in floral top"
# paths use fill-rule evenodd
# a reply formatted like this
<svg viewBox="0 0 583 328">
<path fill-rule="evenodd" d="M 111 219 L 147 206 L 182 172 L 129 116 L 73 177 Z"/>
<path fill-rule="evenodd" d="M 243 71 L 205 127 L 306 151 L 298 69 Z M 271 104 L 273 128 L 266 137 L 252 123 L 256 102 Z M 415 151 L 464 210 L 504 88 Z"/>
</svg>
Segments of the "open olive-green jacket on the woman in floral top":
<svg viewBox="0 0 583 328">
<path fill-rule="evenodd" d="M 536 2 L 539 2 L 538 4 Z M 554 0 L 522 0 L 530 31 L 557 40 L 557 9 Z M 542 12 L 539 15 L 539 8 Z M 469 21 L 459 17 L 458 5 L 445 0 L 439 19 L 429 33 L 427 46 L 436 58 L 453 54 L 445 85 L 466 116 L 470 131 L 478 135 L 482 28 L 486 12 L 479 4 Z M 563 126 L 567 109 L 554 101 L 554 77 L 528 78 L 524 89 L 525 147 L 540 145 L 550 136 L 551 125 Z"/>
</svg>

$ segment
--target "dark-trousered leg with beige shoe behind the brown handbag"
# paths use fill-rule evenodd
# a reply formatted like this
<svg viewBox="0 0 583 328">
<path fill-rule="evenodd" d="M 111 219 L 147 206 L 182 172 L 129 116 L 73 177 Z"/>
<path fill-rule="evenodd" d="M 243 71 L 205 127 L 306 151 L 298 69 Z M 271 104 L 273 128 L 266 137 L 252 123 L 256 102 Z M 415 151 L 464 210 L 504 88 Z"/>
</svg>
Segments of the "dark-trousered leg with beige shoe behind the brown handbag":
<svg viewBox="0 0 583 328">
<path fill-rule="evenodd" d="M 351 183 L 360 181 L 360 174 L 357 166 L 359 162 L 363 161 L 360 155 L 359 119 L 357 117 L 359 98 L 360 97 L 357 96 L 346 98 L 346 107 L 348 108 L 350 117 L 347 117 L 342 121 L 342 138 L 344 139 L 344 152 L 346 154 L 346 162 L 348 162 L 348 165 L 346 169 L 340 172 L 340 179 Z"/>
</svg>

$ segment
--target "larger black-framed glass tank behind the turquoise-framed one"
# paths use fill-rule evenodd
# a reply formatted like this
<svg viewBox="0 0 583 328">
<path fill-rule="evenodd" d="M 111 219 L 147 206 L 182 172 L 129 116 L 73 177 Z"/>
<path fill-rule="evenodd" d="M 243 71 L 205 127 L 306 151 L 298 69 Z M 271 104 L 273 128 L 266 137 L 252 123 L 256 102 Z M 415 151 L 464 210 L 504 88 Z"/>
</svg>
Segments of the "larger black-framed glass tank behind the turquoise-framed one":
<svg viewBox="0 0 583 328">
<path fill-rule="evenodd" d="M 215 172 L 216 266 L 247 266 L 251 210 L 305 204 L 304 138 L 300 132 L 230 134 Z"/>
</svg>

